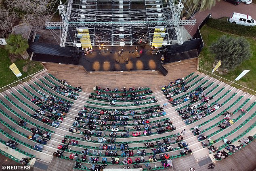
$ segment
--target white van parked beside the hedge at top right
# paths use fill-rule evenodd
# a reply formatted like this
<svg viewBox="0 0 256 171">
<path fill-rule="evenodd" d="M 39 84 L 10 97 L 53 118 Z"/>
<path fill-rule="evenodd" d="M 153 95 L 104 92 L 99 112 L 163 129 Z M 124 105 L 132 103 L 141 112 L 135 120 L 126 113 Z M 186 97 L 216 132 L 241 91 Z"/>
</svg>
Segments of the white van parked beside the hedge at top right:
<svg viewBox="0 0 256 171">
<path fill-rule="evenodd" d="M 252 19 L 250 15 L 240 14 L 237 12 L 233 12 L 233 14 L 228 18 L 230 23 L 246 25 L 246 26 L 255 26 L 256 21 Z"/>
</svg>

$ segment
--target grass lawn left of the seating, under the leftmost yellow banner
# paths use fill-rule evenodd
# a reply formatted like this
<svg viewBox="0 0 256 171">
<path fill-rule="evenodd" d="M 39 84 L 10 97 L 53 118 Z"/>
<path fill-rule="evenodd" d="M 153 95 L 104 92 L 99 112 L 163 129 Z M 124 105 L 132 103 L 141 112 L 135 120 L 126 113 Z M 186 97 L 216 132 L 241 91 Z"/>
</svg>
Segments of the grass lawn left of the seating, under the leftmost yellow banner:
<svg viewBox="0 0 256 171">
<path fill-rule="evenodd" d="M 44 68 L 44 66 L 40 62 L 34 62 L 28 60 L 23 60 L 21 58 L 16 59 L 14 62 L 19 68 L 22 76 L 19 79 L 15 76 L 12 70 L 10 70 L 9 66 L 12 64 L 8 51 L 6 51 L 3 47 L 0 47 L 0 56 L 1 56 L 1 65 L 0 65 L 0 88 L 4 87 L 12 82 L 15 82 L 19 79 L 22 79 L 26 76 L 29 76 L 37 71 L 40 71 Z M 23 71 L 24 67 L 24 71 Z M 20 83 L 20 82 L 19 82 Z M 3 90 L 0 90 L 3 91 Z"/>
</svg>

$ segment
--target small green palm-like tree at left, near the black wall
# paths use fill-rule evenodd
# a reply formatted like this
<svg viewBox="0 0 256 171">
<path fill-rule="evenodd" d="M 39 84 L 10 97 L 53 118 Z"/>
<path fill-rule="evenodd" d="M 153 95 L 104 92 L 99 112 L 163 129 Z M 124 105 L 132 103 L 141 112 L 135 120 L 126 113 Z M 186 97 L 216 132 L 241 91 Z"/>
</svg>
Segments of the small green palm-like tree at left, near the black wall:
<svg viewBox="0 0 256 171">
<path fill-rule="evenodd" d="M 10 54 L 14 55 L 23 55 L 29 48 L 27 41 L 23 39 L 21 35 L 9 35 L 6 39 L 6 43 L 5 48 Z"/>
</svg>

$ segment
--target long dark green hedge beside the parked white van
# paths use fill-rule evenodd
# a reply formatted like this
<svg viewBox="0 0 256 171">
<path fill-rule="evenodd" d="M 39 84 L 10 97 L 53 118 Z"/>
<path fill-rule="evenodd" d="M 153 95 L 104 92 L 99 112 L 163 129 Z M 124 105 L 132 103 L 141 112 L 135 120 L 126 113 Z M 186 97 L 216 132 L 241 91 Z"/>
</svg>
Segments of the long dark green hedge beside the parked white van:
<svg viewBox="0 0 256 171">
<path fill-rule="evenodd" d="M 225 20 L 210 18 L 206 25 L 218 29 L 220 31 L 228 32 L 234 35 L 241 35 L 246 37 L 256 37 L 256 26 L 243 26 L 238 24 L 229 23 Z"/>
</svg>

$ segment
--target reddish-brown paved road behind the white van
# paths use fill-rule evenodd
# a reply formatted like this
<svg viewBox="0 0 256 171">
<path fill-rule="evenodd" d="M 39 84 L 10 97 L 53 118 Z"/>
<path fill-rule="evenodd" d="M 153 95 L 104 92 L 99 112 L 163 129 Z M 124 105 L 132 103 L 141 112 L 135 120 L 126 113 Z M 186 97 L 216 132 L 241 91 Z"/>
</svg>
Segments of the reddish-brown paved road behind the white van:
<svg viewBox="0 0 256 171">
<path fill-rule="evenodd" d="M 232 12 L 238 12 L 242 14 L 248 14 L 252 16 L 253 19 L 256 19 L 256 4 L 239 4 L 239 5 L 233 5 L 229 2 L 225 2 L 224 0 L 220 0 L 220 2 L 216 2 L 216 5 L 212 7 L 211 10 L 206 10 L 202 12 L 197 12 L 195 14 L 195 19 L 197 23 L 194 25 L 194 27 L 191 29 L 189 26 L 185 26 L 186 29 L 188 29 L 188 32 L 190 35 L 194 35 L 197 27 L 200 25 L 200 23 L 208 16 L 208 14 L 212 13 L 212 18 L 219 19 L 224 16 L 231 16 Z"/>
</svg>

